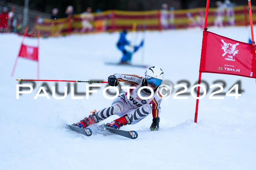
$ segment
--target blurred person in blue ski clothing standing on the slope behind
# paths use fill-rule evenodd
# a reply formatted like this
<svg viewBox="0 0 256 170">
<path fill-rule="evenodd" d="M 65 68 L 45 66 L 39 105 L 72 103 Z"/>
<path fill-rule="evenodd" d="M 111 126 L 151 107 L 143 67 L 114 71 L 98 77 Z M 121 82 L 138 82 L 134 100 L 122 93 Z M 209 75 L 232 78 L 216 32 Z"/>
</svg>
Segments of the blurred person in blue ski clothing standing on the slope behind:
<svg viewBox="0 0 256 170">
<path fill-rule="evenodd" d="M 139 50 L 143 46 L 143 40 L 139 46 L 130 46 L 130 42 L 126 39 L 127 30 L 124 29 L 117 43 L 117 48 L 123 53 L 120 64 L 129 64 L 132 59 L 132 54 Z"/>
</svg>

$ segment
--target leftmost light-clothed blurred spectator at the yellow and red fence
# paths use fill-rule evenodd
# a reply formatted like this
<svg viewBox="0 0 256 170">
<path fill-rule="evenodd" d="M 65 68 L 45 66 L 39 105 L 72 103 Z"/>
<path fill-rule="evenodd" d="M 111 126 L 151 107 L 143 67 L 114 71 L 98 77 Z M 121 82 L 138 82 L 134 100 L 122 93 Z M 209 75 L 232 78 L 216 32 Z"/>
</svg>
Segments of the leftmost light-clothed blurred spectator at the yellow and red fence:
<svg viewBox="0 0 256 170">
<path fill-rule="evenodd" d="M 81 19 L 82 19 L 82 30 L 81 30 L 81 32 L 93 31 L 93 25 L 90 24 L 90 22 L 94 20 L 94 16 L 91 13 L 91 7 L 88 7 L 86 9 L 86 12 L 81 14 Z"/>
</svg>

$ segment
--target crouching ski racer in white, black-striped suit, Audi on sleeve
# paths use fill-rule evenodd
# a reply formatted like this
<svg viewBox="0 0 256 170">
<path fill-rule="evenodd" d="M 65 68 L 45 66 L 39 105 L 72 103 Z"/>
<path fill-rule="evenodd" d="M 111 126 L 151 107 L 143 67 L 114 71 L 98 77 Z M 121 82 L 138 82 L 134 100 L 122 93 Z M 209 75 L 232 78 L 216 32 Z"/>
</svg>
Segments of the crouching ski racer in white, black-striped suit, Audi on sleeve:
<svg viewBox="0 0 256 170">
<path fill-rule="evenodd" d="M 119 95 L 113 100 L 110 107 L 103 108 L 100 111 L 94 110 L 88 117 L 80 120 L 78 123 L 74 123 L 81 128 L 86 128 L 91 124 L 98 123 L 109 116 L 118 115 L 120 118 L 114 120 L 111 123 L 107 123 L 106 126 L 120 129 L 120 127 L 127 124 L 135 124 L 144 119 L 152 112 L 153 123 L 150 126 L 150 130 L 159 129 L 159 114 L 161 95 L 158 91 L 158 87 L 163 82 L 163 71 L 158 66 L 149 67 L 145 72 L 145 77 L 137 75 L 127 74 L 114 74 L 108 77 L 108 83 L 110 86 L 117 86 L 118 81 L 131 83 L 135 89 L 129 90 L 129 97 L 127 92 Z M 141 87 L 150 87 L 153 89 L 154 94 L 150 99 L 142 99 L 138 95 L 138 90 Z M 148 88 L 144 88 L 140 91 L 140 95 L 143 97 L 149 97 L 151 91 Z M 152 106 L 151 106 L 152 104 Z"/>
</svg>

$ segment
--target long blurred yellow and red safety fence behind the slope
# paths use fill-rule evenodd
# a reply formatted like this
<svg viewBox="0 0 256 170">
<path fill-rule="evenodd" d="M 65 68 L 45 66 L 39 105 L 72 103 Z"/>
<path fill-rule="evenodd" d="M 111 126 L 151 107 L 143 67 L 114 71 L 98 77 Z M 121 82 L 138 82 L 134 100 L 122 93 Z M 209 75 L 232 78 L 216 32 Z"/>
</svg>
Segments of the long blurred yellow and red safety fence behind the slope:
<svg viewBox="0 0 256 170">
<path fill-rule="evenodd" d="M 252 7 L 253 9 L 253 7 Z M 40 31 L 42 36 L 59 36 L 69 33 L 115 32 L 122 29 L 132 30 L 133 23 L 137 30 L 142 30 L 146 25 L 147 30 L 181 29 L 203 27 L 205 8 L 182 9 L 175 11 L 118 11 L 109 10 L 96 13 L 84 13 L 61 19 L 38 18 L 35 22 L 35 31 Z M 248 7 L 236 6 L 233 8 L 233 21 L 235 25 L 249 24 Z M 223 26 L 230 25 L 232 16 L 227 16 L 227 9 L 223 12 Z M 256 21 L 256 9 L 252 10 L 253 21 Z M 209 8 L 208 26 L 216 24 L 217 8 Z"/>
</svg>

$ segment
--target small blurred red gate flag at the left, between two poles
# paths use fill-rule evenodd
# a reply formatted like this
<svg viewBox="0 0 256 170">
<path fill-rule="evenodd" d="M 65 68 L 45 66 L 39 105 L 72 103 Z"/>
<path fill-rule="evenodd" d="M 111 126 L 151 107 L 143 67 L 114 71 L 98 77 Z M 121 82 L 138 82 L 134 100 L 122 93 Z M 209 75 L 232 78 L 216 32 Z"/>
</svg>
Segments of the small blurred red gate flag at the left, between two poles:
<svg viewBox="0 0 256 170">
<path fill-rule="evenodd" d="M 19 57 L 38 61 L 38 47 L 26 46 L 21 44 Z"/>
</svg>

